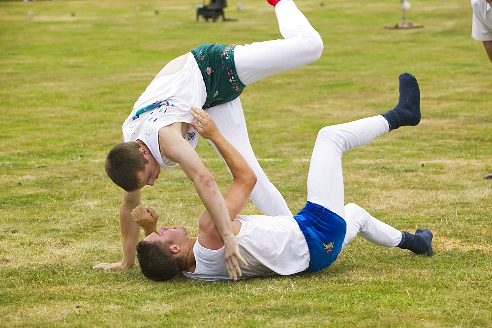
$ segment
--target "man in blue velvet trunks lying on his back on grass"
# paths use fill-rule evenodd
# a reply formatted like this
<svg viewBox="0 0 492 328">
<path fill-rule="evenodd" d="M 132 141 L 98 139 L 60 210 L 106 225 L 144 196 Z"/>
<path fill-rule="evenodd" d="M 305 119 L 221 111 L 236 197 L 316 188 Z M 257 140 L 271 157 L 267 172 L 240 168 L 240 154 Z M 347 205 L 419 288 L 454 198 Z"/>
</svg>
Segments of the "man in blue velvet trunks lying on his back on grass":
<svg viewBox="0 0 492 328">
<path fill-rule="evenodd" d="M 205 111 L 192 108 L 191 113 L 201 125 L 193 124 L 193 127 L 215 144 L 234 177 L 224 198 L 241 254 L 247 262 L 247 266 L 241 266 L 239 279 L 270 272 L 289 275 L 322 270 L 337 259 L 341 249 L 356 235 L 380 246 L 432 254 L 430 230 L 417 229 L 415 234 L 399 231 L 356 204 L 344 206 L 343 202 L 343 152 L 400 126 L 415 126 L 420 122 L 420 90 L 413 75 L 400 75 L 400 100 L 393 110 L 318 132 L 307 175 L 307 204 L 294 217 L 238 215 L 246 205 L 256 177 Z M 162 227 L 157 231 L 158 216 L 150 207 L 138 206 L 132 217 L 146 235 L 137 245 L 137 258 L 147 278 L 162 281 L 184 274 L 199 280 L 229 279 L 224 242 L 207 211 L 200 218 L 198 237 L 188 236 L 184 227 Z"/>
</svg>

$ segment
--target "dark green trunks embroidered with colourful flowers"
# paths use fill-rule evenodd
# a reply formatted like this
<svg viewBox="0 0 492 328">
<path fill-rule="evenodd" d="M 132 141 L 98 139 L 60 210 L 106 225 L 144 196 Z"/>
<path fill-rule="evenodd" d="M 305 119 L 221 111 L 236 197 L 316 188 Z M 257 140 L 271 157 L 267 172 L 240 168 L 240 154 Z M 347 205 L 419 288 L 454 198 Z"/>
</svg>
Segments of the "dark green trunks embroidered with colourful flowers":
<svg viewBox="0 0 492 328">
<path fill-rule="evenodd" d="M 235 44 L 208 43 L 189 51 L 198 63 L 207 90 L 207 99 L 202 108 L 234 100 L 246 88 L 236 73 L 235 47 Z"/>
</svg>

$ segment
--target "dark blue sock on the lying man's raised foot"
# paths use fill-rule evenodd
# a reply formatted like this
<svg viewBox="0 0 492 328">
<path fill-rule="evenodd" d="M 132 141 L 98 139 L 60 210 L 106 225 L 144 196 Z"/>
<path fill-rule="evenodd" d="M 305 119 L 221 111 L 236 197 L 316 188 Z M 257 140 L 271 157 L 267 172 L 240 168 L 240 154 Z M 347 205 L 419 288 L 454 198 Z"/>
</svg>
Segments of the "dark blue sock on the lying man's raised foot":
<svg viewBox="0 0 492 328">
<path fill-rule="evenodd" d="M 420 122 L 420 89 L 412 74 L 400 75 L 400 99 L 398 105 L 385 114 L 381 114 L 390 126 L 390 131 L 400 127 L 415 126 Z"/>
</svg>

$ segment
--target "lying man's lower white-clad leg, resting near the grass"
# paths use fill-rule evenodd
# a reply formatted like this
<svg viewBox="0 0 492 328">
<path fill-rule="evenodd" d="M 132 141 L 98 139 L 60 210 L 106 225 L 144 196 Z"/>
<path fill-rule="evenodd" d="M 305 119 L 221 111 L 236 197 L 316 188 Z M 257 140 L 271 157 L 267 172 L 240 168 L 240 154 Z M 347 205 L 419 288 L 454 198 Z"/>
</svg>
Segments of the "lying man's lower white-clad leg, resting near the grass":
<svg viewBox="0 0 492 328">
<path fill-rule="evenodd" d="M 347 223 L 347 233 L 342 248 L 357 235 L 379 246 L 396 247 L 400 244 L 400 230 L 377 220 L 365 209 L 354 203 L 345 205 L 345 222 Z"/>
</svg>

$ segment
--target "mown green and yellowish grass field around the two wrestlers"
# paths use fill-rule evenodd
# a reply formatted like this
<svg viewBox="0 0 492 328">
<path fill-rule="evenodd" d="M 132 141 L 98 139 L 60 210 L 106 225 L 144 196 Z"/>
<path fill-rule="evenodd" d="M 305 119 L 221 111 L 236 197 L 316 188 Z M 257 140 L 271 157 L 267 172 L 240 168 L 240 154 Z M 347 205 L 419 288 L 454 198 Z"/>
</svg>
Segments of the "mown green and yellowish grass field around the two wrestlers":
<svg viewBox="0 0 492 328">
<path fill-rule="evenodd" d="M 424 25 L 412 30 L 383 28 L 400 21 L 397 0 L 298 0 L 321 59 L 242 96 L 253 149 L 295 212 L 316 132 L 393 108 L 398 75 L 414 74 L 421 124 L 346 153 L 345 200 L 430 228 L 431 258 L 356 238 L 313 274 L 154 283 L 138 262 L 92 269 L 121 260 L 122 192 L 104 158 L 154 75 L 201 43 L 280 38 L 264 0 L 242 12 L 229 0 L 237 21 L 216 23 L 195 22 L 200 2 L 0 1 L 0 326 L 491 327 L 492 65 L 469 0 L 411 1 L 408 20 Z M 197 151 L 225 191 L 213 149 Z M 196 234 L 203 205 L 181 169 L 142 195 L 161 224 Z"/>
</svg>

